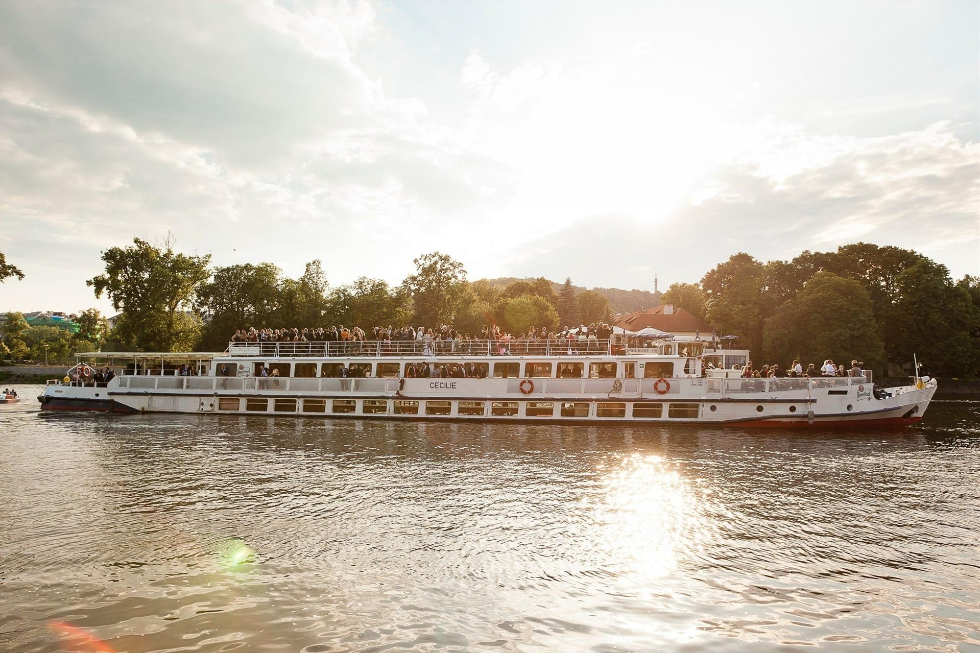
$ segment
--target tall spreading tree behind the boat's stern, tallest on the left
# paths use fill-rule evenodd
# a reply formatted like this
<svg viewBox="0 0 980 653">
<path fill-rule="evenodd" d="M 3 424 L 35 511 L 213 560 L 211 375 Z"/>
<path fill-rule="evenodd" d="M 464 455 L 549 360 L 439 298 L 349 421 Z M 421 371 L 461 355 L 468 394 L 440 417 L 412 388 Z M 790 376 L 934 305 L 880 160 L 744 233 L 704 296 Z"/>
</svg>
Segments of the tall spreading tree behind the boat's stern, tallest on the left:
<svg viewBox="0 0 980 653">
<path fill-rule="evenodd" d="M 104 251 L 105 274 L 86 281 L 96 297 L 107 294 L 113 308 L 123 314 L 115 336 L 143 351 L 192 349 L 200 321 L 184 311 L 209 276 L 211 256 L 174 252 L 170 238 L 162 247 L 140 238 L 132 242 L 129 247 Z"/>
</svg>

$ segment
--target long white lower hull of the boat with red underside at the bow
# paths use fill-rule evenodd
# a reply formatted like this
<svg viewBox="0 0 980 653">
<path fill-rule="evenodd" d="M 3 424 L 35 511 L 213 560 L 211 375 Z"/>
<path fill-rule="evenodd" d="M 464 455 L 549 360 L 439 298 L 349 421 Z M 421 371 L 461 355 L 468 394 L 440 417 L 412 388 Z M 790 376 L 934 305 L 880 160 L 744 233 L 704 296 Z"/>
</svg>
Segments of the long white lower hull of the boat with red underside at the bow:
<svg viewBox="0 0 980 653">
<path fill-rule="evenodd" d="M 290 391 L 265 384 L 263 389 L 241 384 L 241 390 L 219 379 L 210 391 L 186 388 L 131 386 L 49 386 L 39 397 L 42 410 L 208 415 L 265 415 L 343 419 L 428 420 L 459 422 L 520 422 L 546 424 L 649 424 L 741 428 L 856 428 L 905 427 L 922 419 L 936 391 L 935 381 L 917 388 L 892 388 L 893 395 L 871 398 L 865 385 L 846 389 L 749 393 L 739 396 L 671 394 L 633 396 L 603 394 L 483 395 L 474 392 L 441 394 L 431 381 L 377 381 L 363 387 L 344 386 L 340 392 Z M 386 380 L 393 382 L 386 383 Z M 200 381 L 204 382 L 204 381 Z M 480 379 L 470 383 L 478 387 Z M 609 381 L 612 383 L 613 381 Z M 543 384 L 542 384 L 543 385 Z M 258 384 L 256 386 L 258 388 Z M 619 386 L 621 388 L 621 385 Z M 319 387 L 319 390 L 325 389 Z M 468 390 L 468 387 L 455 388 Z M 542 387 L 541 389 L 544 389 Z M 604 396 L 605 395 L 605 396 Z"/>
</svg>

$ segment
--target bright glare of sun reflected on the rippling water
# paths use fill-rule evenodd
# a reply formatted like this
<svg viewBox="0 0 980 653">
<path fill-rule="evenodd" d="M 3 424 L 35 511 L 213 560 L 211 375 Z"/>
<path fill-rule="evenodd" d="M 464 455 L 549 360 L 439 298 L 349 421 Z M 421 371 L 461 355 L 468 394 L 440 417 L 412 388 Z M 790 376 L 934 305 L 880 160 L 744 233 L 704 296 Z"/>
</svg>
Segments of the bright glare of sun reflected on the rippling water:
<svg viewBox="0 0 980 653">
<path fill-rule="evenodd" d="M 694 557 L 714 535 L 710 490 L 657 455 L 632 454 L 602 466 L 592 507 L 606 553 L 635 574 L 659 578 Z"/>
</svg>

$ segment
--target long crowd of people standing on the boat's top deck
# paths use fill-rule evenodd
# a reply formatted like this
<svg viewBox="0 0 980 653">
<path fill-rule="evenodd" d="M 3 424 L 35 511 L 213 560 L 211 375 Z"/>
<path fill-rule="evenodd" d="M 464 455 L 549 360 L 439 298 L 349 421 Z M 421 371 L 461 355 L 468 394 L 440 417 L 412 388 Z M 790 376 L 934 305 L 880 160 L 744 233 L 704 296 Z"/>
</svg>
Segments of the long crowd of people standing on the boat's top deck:
<svg viewBox="0 0 980 653">
<path fill-rule="evenodd" d="M 544 352 L 564 348 L 566 353 L 599 353 L 613 334 L 613 327 L 604 323 L 552 331 L 547 328 L 528 327 L 527 331 L 514 335 L 497 325 L 484 326 L 470 334 L 449 325 L 425 326 L 374 326 L 369 332 L 359 326 L 331 326 L 328 328 L 240 328 L 231 336 L 231 342 L 293 343 L 279 347 L 280 353 L 296 352 L 319 354 L 337 351 L 332 343 L 346 343 L 344 351 L 357 351 L 368 341 L 380 343 L 384 354 L 417 353 L 425 356 L 442 354 L 483 353 L 522 354 Z M 306 344 L 304 344 L 306 343 Z M 373 346 L 373 345 L 371 345 Z"/>
</svg>

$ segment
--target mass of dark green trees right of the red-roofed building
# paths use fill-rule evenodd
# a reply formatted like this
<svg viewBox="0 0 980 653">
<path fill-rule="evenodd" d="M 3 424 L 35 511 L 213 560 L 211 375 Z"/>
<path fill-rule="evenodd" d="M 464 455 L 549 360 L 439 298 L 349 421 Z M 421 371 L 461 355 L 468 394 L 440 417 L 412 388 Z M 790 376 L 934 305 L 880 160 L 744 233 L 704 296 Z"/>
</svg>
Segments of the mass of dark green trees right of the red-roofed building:
<svg viewBox="0 0 980 653">
<path fill-rule="evenodd" d="M 827 358 L 885 370 L 916 355 L 929 374 L 980 375 L 980 277 L 955 281 L 917 252 L 868 243 L 762 263 L 739 253 L 663 303 L 734 334 L 757 367 Z"/>
</svg>

